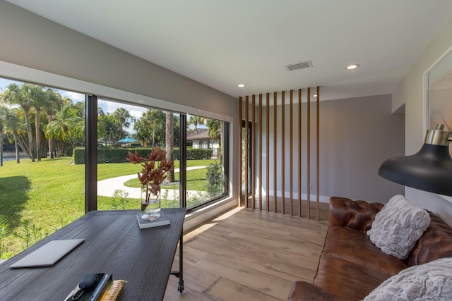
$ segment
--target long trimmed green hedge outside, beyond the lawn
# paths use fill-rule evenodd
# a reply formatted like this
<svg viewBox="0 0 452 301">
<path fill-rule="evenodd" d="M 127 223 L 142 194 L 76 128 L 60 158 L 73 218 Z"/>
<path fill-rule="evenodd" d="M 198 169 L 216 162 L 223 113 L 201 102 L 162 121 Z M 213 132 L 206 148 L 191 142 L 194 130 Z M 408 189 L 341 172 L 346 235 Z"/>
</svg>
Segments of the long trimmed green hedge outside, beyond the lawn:
<svg viewBox="0 0 452 301">
<path fill-rule="evenodd" d="M 97 148 L 97 164 L 127 162 L 129 152 L 138 152 L 140 156 L 148 156 L 153 147 L 102 147 Z M 165 149 L 163 149 L 165 150 Z M 212 158 L 213 149 L 187 149 L 187 160 L 203 160 Z M 180 159 L 179 148 L 174 148 L 172 157 Z M 85 164 L 85 148 L 79 147 L 73 150 L 73 163 Z"/>
</svg>

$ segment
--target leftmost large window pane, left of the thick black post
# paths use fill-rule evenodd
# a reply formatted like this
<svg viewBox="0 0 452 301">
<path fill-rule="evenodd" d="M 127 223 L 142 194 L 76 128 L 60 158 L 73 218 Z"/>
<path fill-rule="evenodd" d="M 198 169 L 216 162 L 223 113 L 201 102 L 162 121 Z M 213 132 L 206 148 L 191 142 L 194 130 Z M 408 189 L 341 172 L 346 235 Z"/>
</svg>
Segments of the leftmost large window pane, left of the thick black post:
<svg viewBox="0 0 452 301">
<path fill-rule="evenodd" d="M 0 259 L 85 213 L 85 95 L 0 79 Z M 84 156 L 84 153 L 81 154 Z"/>
</svg>

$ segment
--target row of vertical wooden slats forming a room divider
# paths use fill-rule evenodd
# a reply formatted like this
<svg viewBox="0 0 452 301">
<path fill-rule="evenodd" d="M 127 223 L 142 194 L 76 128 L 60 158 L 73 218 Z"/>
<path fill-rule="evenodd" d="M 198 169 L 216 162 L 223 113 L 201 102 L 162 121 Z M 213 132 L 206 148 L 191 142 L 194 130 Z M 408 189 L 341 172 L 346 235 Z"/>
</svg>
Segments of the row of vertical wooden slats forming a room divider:
<svg viewBox="0 0 452 301">
<path fill-rule="evenodd" d="M 316 211 L 317 211 L 317 220 L 320 219 L 319 217 L 319 203 L 320 203 L 320 87 L 317 88 L 317 94 L 316 94 Z M 293 107 L 293 90 L 290 90 L 290 171 L 288 175 L 288 180 L 290 180 L 290 215 L 292 216 L 294 214 L 294 206 L 293 203 L 293 189 L 294 189 L 294 183 L 293 183 L 293 176 L 294 176 L 294 166 L 292 166 L 292 162 L 294 161 L 293 157 L 293 135 L 294 135 L 294 107 Z M 314 94 L 314 92 L 312 93 Z M 266 93 L 266 117 L 263 117 L 263 96 L 262 94 L 259 94 L 259 103 L 258 103 L 258 116 L 256 119 L 256 95 L 253 95 L 253 102 L 251 104 L 251 108 L 253 108 L 252 116 L 249 116 L 249 97 L 246 96 L 246 103 L 245 103 L 245 120 L 248 121 L 245 124 L 245 131 L 246 131 L 246 137 L 244 141 L 244 147 L 242 143 L 239 144 L 239 153 L 240 156 L 243 156 L 244 149 L 246 149 L 245 152 L 245 158 L 244 160 L 240 160 L 241 168 L 239 171 L 239 185 L 242 185 L 242 176 L 243 176 L 243 170 L 244 167 L 243 164 L 246 164 L 245 168 L 245 190 L 246 190 L 246 207 L 249 206 L 249 186 L 251 184 L 251 194 L 252 194 L 252 207 L 258 206 L 260 210 L 263 210 L 262 206 L 262 196 L 263 196 L 263 189 L 266 190 L 266 209 L 267 211 L 270 211 L 270 93 Z M 278 177 L 281 178 L 281 200 L 280 203 L 282 205 L 281 213 L 285 214 L 285 92 L 282 91 L 282 97 L 281 97 L 281 108 L 282 111 L 280 113 L 280 116 L 278 116 L 278 92 L 273 92 L 273 187 L 274 187 L 274 211 L 278 212 Z M 239 119 L 243 120 L 243 98 L 239 97 Z M 298 90 L 298 186 L 299 186 L 299 195 L 298 195 L 298 216 L 302 216 L 302 166 L 303 166 L 303 156 L 302 156 L 302 149 L 303 144 L 302 142 L 302 135 L 303 135 L 303 114 L 302 114 L 302 89 Z M 311 147 L 314 147 L 314 145 L 311 145 L 311 88 L 307 88 L 307 218 L 310 219 L 311 215 Z M 254 128 L 249 128 L 249 119 L 251 117 L 251 124 L 254 126 Z M 278 118 L 281 118 L 281 167 L 278 170 Z M 262 130 L 262 123 L 266 121 L 266 136 L 263 135 Z M 258 127 L 258 128 L 257 128 Z M 240 127 L 241 128 L 241 127 Z M 258 138 L 256 137 L 258 135 Z M 250 137 L 252 136 L 252 137 Z M 239 137 L 241 140 L 244 139 L 242 130 L 240 130 Z M 266 149 L 264 150 L 263 146 L 263 138 L 266 138 Z M 250 139 L 251 138 L 251 139 Z M 258 141 L 256 141 L 258 139 Z M 266 152 L 266 186 L 263 186 L 263 154 Z M 251 158 L 249 157 L 251 155 Z M 257 165 L 256 165 L 257 164 Z M 251 165 L 251 166 L 250 166 Z M 258 168 L 258 169 L 257 169 Z M 279 172 L 278 172 L 279 171 Z M 259 187 L 257 188 L 257 185 Z M 259 195 L 259 202 L 256 202 L 256 193 Z M 243 197 L 242 195 L 239 196 L 239 204 L 242 204 Z"/>
</svg>

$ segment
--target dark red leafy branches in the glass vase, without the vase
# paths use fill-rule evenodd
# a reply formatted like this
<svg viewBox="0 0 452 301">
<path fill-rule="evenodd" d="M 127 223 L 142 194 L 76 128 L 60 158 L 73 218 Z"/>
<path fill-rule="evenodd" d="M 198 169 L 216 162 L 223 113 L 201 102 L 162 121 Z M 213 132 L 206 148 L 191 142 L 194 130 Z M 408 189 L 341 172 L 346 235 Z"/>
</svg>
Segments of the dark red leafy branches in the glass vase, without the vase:
<svg viewBox="0 0 452 301">
<path fill-rule="evenodd" d="M 158 197 L 160 194 L 160 185 L 165 180 L 167 173 L 174 169 L 171 160 L 165 159 L 165 152 L 160 147 L 154 147 L 147 158 L 129 152 L 129 158 L 126 159 L 133 164 L 143 166 L 141 173 L 138 172 L 138 180 L 146 189 L 146 201 L 150 200 L 150 195 Z M 158 161 L 158 164 L 156 162 Z"/>
</svg>

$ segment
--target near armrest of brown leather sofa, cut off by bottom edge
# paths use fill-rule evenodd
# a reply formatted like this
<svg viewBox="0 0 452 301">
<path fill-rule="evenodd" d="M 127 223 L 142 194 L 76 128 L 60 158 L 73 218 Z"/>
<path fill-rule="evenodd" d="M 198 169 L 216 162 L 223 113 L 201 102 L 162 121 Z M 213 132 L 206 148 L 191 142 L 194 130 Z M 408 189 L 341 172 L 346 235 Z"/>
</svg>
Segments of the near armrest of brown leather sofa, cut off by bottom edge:
<svg viewBox="0 0 452 301">
<path fill-rule="evenodd" d="M 345 299 L 334 295 L 333 293 L 319 288 L 319 286 L 306 281 L 295 281 L 290 289 L 288 301 L 344 301 Z"/>
</svg>

